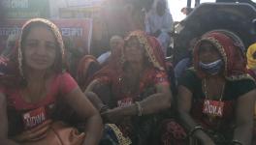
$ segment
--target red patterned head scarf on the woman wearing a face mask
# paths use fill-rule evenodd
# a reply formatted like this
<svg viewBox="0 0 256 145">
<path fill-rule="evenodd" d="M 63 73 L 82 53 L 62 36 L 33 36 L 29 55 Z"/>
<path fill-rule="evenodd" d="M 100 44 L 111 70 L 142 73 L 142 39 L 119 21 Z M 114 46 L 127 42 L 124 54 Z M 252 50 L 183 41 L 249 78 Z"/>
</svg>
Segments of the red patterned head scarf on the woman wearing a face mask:
<svg viewBox="0 0 256 145">
<path fill-rule="evenodd" d="M 249 77 L 245 73 L 245 58 L 243 54 L 243 44 L 240 38 L 234 33 L 226 30 L 214 30 L 203 35 L 202 39 L 195 45 L 194 67 L 200 77 L 205 77 L 199 67 L 199 49 L 203 42 L 213 44 L 224 61 L 224 76 L 228 80 L 238 80 Z"/>
</svg>

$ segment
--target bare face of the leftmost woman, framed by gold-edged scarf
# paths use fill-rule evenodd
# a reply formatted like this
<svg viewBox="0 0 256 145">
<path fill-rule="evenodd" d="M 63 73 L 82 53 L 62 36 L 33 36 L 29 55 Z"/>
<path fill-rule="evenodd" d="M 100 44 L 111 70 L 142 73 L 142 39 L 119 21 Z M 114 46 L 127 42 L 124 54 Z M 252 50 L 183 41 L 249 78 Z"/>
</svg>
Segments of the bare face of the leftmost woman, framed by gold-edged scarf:
<svg viewBox="0 0 256 145">
<path fill-rule="evenodd" d="M 48 70 L 56 57 L 56 41 L 46 26 L 34 26 L 24 40 L 23 54 L 27 67 Z"/>
</svg>

